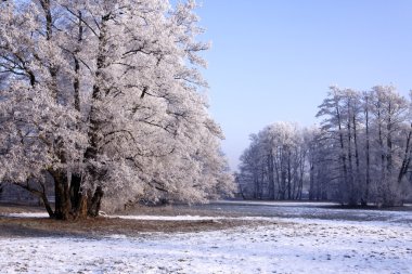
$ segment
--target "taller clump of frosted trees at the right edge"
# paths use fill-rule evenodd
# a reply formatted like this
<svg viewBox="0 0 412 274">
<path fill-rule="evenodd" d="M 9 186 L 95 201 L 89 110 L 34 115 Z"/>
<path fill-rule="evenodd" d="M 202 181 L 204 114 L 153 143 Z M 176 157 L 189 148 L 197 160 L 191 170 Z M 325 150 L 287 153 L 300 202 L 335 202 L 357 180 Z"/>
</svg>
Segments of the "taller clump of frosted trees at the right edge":
<svg viewBox="0 0 412 274">
<path fill-rule="evenodd" d="M 408 101 L 394 87 L 369 92 L 332 87 L 320 105 L 322 134 L 329 140 L 325 167 L 335 175 L 337 200 L 349 205 L 402 201 L 410 165 Z"/>
</svg>

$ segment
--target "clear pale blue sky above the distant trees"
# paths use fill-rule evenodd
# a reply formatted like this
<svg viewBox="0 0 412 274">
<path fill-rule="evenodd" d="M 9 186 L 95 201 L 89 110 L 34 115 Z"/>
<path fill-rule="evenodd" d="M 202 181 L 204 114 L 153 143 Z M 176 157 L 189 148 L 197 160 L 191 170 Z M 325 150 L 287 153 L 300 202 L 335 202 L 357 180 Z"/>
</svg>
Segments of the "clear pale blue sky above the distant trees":
<svg viewBox="0 0 412 274">
<path fill-rule="evenodd" d="M 213 48 L 210 114 L 232 170 L 248 135 L 280 120 L 304 126 L 327 87 L 412 89 L 411 0 L 203 0 Z"/>
</svg>

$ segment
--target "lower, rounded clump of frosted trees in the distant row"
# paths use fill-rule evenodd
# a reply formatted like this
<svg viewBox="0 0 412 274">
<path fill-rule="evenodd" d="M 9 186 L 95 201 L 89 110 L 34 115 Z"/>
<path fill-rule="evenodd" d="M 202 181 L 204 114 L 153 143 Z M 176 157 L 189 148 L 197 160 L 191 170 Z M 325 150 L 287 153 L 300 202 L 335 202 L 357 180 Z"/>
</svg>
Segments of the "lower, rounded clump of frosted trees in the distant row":
<svg viewBox="0 0 412 274">
<path fill-rule="evenodd" d="M 274 122 L 252 136 L 241 156 L 241 187 L 253 198 L 301 198 L 307 157 L 304 131 L 296 123 Z"/>
</svg>

